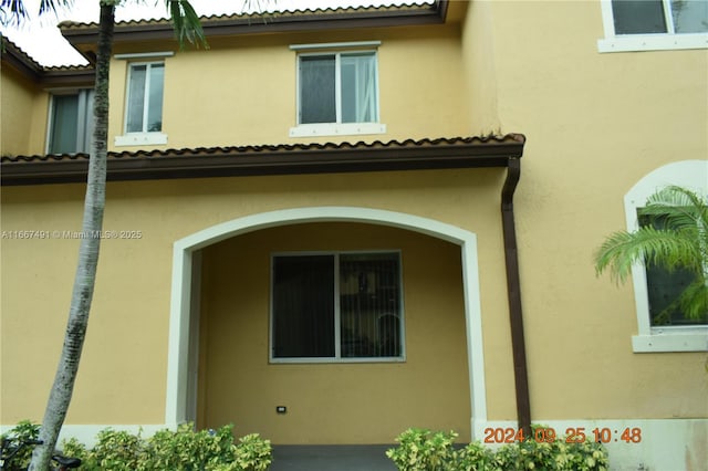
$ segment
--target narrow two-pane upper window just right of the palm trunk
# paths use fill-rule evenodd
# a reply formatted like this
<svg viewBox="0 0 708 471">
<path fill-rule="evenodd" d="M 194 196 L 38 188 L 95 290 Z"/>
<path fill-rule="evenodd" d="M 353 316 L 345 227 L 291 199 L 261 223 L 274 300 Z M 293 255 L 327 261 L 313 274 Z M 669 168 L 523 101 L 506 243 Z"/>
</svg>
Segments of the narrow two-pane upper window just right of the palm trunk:
<svg viewBox="0 0 708 471">
<path fill-rule="evenodd" d="M 128 65 L 125 136 L 116 145 L 167 144 L 163 130 L 164 62 Z"/>
</svg>

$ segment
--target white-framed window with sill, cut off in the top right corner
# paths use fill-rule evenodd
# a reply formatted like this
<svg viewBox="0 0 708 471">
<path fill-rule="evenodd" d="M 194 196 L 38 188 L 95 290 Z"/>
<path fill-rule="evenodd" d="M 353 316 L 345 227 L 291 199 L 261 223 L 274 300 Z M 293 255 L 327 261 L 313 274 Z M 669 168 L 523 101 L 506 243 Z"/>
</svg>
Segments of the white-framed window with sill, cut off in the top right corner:
<svg viewBox="0 0 708 471">
<path fill-rule="evenodd" d="M 708 0 L 602 0 L 601 52 L 708 48 Z"/>
</svg>

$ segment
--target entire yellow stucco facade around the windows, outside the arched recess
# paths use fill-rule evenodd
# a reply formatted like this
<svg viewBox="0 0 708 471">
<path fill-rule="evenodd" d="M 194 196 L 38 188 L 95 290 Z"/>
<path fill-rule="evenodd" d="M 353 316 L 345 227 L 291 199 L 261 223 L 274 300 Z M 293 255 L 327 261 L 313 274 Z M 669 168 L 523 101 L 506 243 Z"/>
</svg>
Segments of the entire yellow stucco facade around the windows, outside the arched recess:
<svg viewBox="0 0 708 471">
<path fill-rule="evenodd" d="M 624 228 L 622 199 L 636 181 L 666 163 L 708 155 L 705 50 L 601 54 L 601 6 L 586 1 L 475 2 L 462 32 L 456 31 L 342 31 L 288 41 L 264 35 L 178 52 L 166 60 L 167 147 L 294 143 L 287 137 L 295 113 L 295 55 L 288 44 L 381 39 L 388 134 L 366 139 L 527 135 L 516 218 L 532 419 L 568 427 L 591 419 L 602 427 L 611 419 L 632 426 L 697 418 L 705 430 L 705 352 L 633 353 L 632 287 L 597 279 L 592 263 L 603 238 Z M 242 62 L 226 60 L 227 45 L 243 52 Z M 114 83 L 125 83 L 125 64 L 114 61 Z M 217 85 L 191 87 L 207 70 L 219 74 L 209 76 Z M 111 136 L 121 133 L 123 94 L 112 88 Z M 204 103 L 208 115 L 200 114 Z M 262 211 L 342 205 L 415 213 L 478 234 L 488 417 L 513 423 L 502 181 L 500 170 L 461 170 L 110 184 L 106 229 L 137 230 L 142 238 L 104 241 L 70 422 L 164 419 L 174 241 Z M 2 188 L 2 228 L 77 230 L 81 198 L 81 186 Z M 2 242 L 0 421 L 11 423 L 41 414 L 76 243 Z M 15 352 L 27 352 L 23 363 L 13 359 Z M 269 407 L 268 414 L 274 404 Z M 669 429 L 656 427 L 654 437 L 666 438 Z M 675 449 L 689 442 L 680 433 L 673 435 Z"/>
</svg>

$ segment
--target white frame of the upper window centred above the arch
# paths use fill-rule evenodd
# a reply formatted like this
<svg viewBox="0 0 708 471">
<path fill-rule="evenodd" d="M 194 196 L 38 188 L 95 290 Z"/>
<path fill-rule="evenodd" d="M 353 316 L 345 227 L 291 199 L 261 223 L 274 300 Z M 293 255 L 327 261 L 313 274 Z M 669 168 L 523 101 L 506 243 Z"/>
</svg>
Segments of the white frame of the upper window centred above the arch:
<svg viewBox="0 0 708 471">
<path fill-rule="evenodd" d="M 311 137 L 311 136 L 337 136 L 337 135 L 360 135 L 360 134 L 385 134 L 386 125 L 381 123 L 381 96 L 378 83 L 378 51 L 376 46 L 379 41 L 365 41 L 355 43 L 326 43 L 326 44 L 298 44 L 291 45 L 294 51 L 313 51 L 317 52 L 300 52 L 296 56 L 296 106 L 295 122 L 296 126 L 290 128 L 290 137 Z M 353 48 L 345 49 L 343 48 Z M 366 49 L 362 49 L 365 46 Z M 372 123 L 342 123 L 342 93 L 341 93 L 341 57 L 347 54 L 372 54 L 374 56 L 374 81 L 376 87 L 376 116 Z M 300 123 L 300 60 L 306 56 L 334 55 L 335 61 L 335 108 L 336 123 Z"/>
</svg>

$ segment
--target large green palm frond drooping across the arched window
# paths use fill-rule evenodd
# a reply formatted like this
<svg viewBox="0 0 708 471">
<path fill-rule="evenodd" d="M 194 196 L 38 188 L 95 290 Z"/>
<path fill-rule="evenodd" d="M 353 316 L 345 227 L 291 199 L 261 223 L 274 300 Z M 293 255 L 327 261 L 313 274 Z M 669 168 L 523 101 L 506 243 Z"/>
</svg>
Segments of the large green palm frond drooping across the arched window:
<svg viewBox="0 0 708 471">
<path fill-rule="evenodd" d="M 690 232 L 652 227 L 614 232 L 595 253 L 595 271 L 600 275 L 610 269 L 612 279 L 620 283 L 626 281 L 636 262 L 702 273 L 701 253 L 693 237 Z"/>
</svg>

